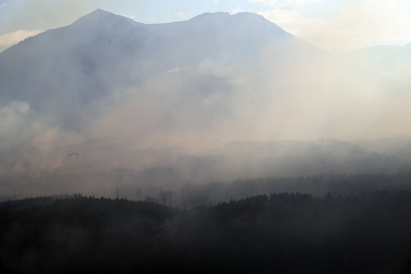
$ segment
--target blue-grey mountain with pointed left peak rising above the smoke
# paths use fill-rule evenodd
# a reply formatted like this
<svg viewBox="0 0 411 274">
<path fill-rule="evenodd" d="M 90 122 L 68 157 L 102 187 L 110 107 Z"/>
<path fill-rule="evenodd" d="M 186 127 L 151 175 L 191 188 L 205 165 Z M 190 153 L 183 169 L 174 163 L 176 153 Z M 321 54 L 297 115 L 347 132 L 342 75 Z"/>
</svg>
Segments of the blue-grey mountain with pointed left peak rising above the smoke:
<svg viewBox="0 0 411 274">
<path fill-rule="evenodd" d="M 282 55 L 303 41 L 252 13 L 207 13 L 189 21 L 145 25 L 103 10 L 46 31 L 0 54 L 1 105 L 25 101 L 76 129 L 82 108 L 119 86 L 201 62 L 245 62 L 275 43 Z M 230 64 L 229 64 L 230 65 Z M 24 80 L 24 81 L 22 81 Z"/>
</svg>

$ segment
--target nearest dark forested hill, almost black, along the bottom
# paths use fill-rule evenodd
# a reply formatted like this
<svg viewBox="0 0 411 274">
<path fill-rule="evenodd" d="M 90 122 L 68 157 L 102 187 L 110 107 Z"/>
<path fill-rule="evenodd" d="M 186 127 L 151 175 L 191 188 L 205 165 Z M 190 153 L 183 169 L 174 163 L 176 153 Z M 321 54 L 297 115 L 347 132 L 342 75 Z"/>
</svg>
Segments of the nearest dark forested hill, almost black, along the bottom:
<svg viewBox="0 0 411 274">
<path fill-rule="evenodd" d="M 257 195 L 177 210 L 76 195 L 0 204 L 3 272 L 407 272 L 411 192 Z"/>
</svg>

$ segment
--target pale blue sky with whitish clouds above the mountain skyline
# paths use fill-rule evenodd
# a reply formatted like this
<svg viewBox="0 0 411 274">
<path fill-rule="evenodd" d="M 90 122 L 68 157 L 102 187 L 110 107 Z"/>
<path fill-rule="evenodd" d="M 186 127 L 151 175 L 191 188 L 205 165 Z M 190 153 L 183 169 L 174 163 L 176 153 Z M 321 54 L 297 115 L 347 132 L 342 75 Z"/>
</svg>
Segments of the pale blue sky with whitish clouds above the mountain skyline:
<svg viewBox="0 0 411 274">
<path fill-rule="evenodd" d="M 146 24 L 255 12 L 327 50 L 411 42 L 411 0 L 0 0 L 0 51 L 97 8 Z"/>
</svg>

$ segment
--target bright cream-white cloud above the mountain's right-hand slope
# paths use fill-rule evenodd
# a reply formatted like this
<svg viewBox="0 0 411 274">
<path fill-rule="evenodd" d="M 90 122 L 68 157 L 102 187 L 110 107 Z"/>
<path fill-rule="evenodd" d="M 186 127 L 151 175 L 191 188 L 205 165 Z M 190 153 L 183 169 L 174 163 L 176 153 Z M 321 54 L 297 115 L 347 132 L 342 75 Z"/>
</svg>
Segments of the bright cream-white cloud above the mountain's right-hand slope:
<svg viewBox="0 0 411 274">
<path fill-rule="evenodd" d="M 261 7 L 257 13 L 324 49 L 356 50 L 410 42 L 411 1 L 364 0 L 331 5 L 322 0 L 250 2 Z"/>
</svg>

